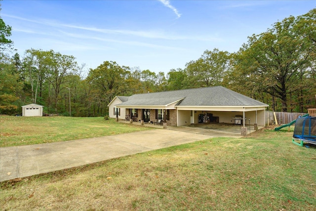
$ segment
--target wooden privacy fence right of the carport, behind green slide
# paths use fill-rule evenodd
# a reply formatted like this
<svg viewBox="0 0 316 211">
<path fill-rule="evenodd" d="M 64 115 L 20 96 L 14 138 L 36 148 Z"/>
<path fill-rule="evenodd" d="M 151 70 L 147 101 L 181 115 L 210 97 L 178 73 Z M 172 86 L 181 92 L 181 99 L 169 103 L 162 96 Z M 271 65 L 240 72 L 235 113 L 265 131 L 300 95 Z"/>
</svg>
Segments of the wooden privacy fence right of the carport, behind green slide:
<svg viewBox="0 0 316 211">
<path fill-rule="evenodd" d="M 266 126 L 275 125 L 273 111 L 266 111 Z M 293 120 L 296 120 L 299 116 L 303 116 L 306 113 L 290 113 L 290 112 L 275 112 L 276 113 L 276 121 L 279 125 L 288 124 Z"/>
</svg>

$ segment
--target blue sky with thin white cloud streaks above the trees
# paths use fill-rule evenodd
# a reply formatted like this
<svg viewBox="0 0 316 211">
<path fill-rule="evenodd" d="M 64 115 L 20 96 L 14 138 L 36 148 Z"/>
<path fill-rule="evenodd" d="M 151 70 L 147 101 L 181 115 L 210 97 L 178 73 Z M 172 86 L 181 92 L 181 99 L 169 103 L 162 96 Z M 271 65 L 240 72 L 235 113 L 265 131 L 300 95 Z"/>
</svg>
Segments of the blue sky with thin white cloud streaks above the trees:
<svg viewBox="0 0 316 211">
<path fill-rule="evenodd" d="M 207 50 L 236 52 L 247 37 L 316 0 L 2 0 L 0 15 L 23 57 L 53 49 L 85 63 L 104 61 L 167 73 Z"/>
</svg>

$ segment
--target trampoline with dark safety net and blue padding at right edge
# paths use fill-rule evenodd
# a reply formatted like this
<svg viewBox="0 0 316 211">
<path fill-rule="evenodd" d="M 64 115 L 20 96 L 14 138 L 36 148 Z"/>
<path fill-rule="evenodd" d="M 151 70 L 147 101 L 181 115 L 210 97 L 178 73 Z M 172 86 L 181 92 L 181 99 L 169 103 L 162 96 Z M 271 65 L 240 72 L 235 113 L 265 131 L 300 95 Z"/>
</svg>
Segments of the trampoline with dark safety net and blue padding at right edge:
<svg viewBox="0 0 316 211">
<path fill-rule="evenodd" d="M 304 142 L 316 144 L 316 117 L 307 116 L 297 118 L 292 142 L 299 146 L 303 146 Z"/>
</svg>

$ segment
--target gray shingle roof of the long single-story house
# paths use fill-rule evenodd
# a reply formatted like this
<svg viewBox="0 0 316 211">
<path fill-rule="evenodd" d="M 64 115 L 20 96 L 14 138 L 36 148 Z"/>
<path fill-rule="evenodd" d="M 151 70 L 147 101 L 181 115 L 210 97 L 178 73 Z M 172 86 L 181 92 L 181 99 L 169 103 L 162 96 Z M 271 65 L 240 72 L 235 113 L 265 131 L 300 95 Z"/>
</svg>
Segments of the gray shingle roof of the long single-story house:
<svg viewBox="0 0 316 211">
<path fill-rule="evenodd" d="M 223 86 L 134 94 L 118 106 L 168 105 L 178 100 L 177 106 L 268 106 Z"/>
</svg>

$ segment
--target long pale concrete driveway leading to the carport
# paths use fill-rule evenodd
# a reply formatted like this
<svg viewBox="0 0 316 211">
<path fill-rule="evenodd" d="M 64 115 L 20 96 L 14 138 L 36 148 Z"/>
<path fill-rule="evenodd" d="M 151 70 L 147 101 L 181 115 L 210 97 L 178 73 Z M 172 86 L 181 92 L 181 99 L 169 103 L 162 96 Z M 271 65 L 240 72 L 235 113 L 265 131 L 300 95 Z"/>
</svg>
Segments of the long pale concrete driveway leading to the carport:
<svg viewBox="0 0 316 211">
<path fill-rule="evenodd" d="M 73 141 L 1 147 L 0 181 L 68 169 L 210 137 L 213 136 L 188 133 L 183 129 L 181 131 L 181 128 L 153 129 Z"/>
</svg>

